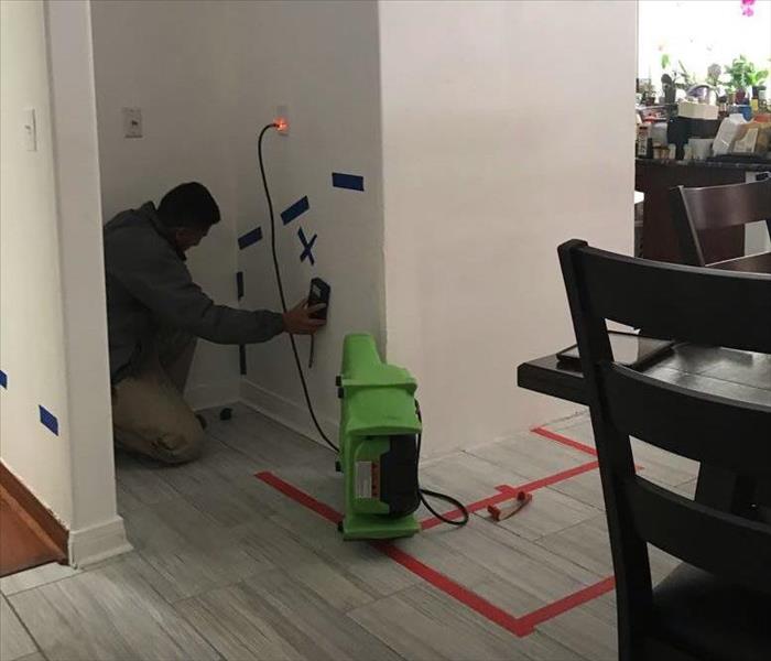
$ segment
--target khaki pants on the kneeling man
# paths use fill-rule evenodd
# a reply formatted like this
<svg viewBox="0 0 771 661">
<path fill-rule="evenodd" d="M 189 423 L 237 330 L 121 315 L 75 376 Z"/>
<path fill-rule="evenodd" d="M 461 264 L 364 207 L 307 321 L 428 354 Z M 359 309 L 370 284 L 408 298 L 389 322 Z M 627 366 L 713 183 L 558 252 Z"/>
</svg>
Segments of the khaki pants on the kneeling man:
<svg viewBox="0 0 771 661">
<path fill-rule="evenodd" d="M 155 347 L 112 389 L 116 445 L 165 464 L 197 458 L 204 430 L 182 398 L 196 339 L 161 330 Z"/>
</svg>

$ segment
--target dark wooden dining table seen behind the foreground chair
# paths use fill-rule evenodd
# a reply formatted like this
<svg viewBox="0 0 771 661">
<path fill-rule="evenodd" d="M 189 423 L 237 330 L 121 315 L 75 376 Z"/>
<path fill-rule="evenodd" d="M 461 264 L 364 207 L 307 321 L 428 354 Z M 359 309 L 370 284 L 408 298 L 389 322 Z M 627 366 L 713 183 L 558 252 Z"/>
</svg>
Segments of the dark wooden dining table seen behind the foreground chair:
<svg viewBox="0 0 771 661">
<path fill-rule="evenodd" d="M 771 407 L 771 355 L 768 354 L 682 344 L 642 371 L 691 390 Z M 578 404 L 588 402 L 582 372 L 564 367 L 555 355 L 520 365 L 517 384 Z M 758 433 L 768 434 L 771 442 L 771 431 L 758 430 Z M 696 499 L 725 511 L 742 512 L 751 497 L 748 490 L 752 489 L 754 485 L 740 476 L 702 466 Z"/>
</svg>

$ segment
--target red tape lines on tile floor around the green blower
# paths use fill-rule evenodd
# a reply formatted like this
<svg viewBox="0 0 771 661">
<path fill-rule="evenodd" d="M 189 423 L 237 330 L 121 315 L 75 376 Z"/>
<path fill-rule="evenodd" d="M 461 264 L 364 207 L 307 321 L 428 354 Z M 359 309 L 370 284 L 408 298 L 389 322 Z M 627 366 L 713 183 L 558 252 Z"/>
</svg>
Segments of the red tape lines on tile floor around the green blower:
<svg viewBox="0 0 771 661">
<path fill-rule="evenodd" d="M 499 491 L 501 491 L 500 494 L 471 503 L 470 506 L 468 506 L 469 511 L 471 511 L 471 508 L 475 508 L 474 511 L 476 511 L 478 509 L 487 507 L 487 505 L 509 499 L 511 498 L 511 491 L 517 492 L 522 488 L 539 488 L 540 486 L 554 484 L 562 479 L 573 477 L 573 475 L 578 475 L 580 473 L 591 470 L 593 468 L 597 467 L 596 464 L 596 462 L 590 462 L 589 464 L 577 466 L 576 468 L 572 468 L 571 470 L 563 470 L 562 473 L 558 473 L 556 475 L 530 483 L 530 485 L 537 486 L 523 485 L 521 487 L 496 487 Z M 281 491 L 287 498 L 291 498 L 292 500 L 295 500 L 303 507 L 306 507 L 307 509 L 316 512 L 318 516 L 325 518 L 332 523 L 337 523 L 343 519 L 343 514 L 340 514 L 340 512 L 330 508 L 328 505 L 316 500 L 313 496 L 297 489 L 293 485 L 289 484 L 287 481 L 284 481 L 283 479 L 281 479 L 280 477 L 278 477 L 269 470 L 258 473 L 256 477 L 270 485 L 274 489 Z M 426 521 L 431 520 L 432 519 L 428 519 Z M 424 521 L 423 523 L 425 524 L 426 521 Z M 507 631 L 510 631 L 511 633 L 520 638 L 532 633 L 534 631 L 535 626 L 537 626 L 539 624 L 549 620 L 553 617 L 556 617 L 557 615 L 569 610 L 571 608 L 575 608 L 576 606 L 579 606 L 580 604 L 584 604 L 589 599 L 594 599 L 595 597 L 598 597 L 601 594 L 610 592 L 615 585 L 613 577 L 610 576 L 609 578 L 605 578 L 594 585 L 590 585 L 576 593 L 573 593 L 572 595 L 567 595 L 566 597 L 563 597 L 562 599 L 558 599 L 553 604 L 547 604 L 546 606 L 539 608 L 537 610 L 533 610 L 528 615 L 517 617 L 499 608 L 495 604 L 491 604 L 484 597 L 480 597 L 478 594 L 468 589 L 467 587 L 464 587 L 459 583 L 456 583 L 455 581 L 453 581 L 448 576 L 445 576 L 441 572 L 437 572 L 424 562 L 417 560 L 415 556 L 410 555 L 405 551 L 402 551 L 391 542 L 373 541 L 370 542 L 370 544 L 374 549 L 378 549 L 383 555 L 387 555 L 392 561 L 399 563 L 404 568 L 423 578 L 426 583 L 433 585 L 435 588 L 442 590 L 446 595 L 464 604 L 465 606 L 478 613 L 486 619 L 490 620 L 491 622 L 495 622 L 499 627 L 502 627 Z"/>
</svg>

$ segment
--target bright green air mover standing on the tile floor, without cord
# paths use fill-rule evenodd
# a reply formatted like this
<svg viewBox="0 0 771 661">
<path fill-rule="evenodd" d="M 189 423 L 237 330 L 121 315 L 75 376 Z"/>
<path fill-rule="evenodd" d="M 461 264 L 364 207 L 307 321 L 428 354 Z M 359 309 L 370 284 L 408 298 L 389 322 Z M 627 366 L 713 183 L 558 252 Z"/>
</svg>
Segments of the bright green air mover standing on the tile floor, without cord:
<svg viewBox="0 0 771 661">
<path fill-rule="evenodd" d="M 393 539 L 420 531 L 415 409 L 417 383 L 384 364 L 371 335 L 348 335 L 338 379 L 343 399 L 338 468 L 345 476 L 346 540 Z"/>
</svg>

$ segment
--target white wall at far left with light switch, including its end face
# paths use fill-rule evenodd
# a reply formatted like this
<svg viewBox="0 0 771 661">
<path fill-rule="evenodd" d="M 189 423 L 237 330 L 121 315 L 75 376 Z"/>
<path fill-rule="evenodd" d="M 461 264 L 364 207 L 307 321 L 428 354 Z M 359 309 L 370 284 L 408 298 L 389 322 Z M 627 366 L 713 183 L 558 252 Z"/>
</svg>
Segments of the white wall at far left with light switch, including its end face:
<svg viewBox="0 0 771 661">
<path fill-rule="evenodd" d="M 69 530 L 128 549 L 116 513 L 89 7 L 2 2 L 0 457 Z M 36 111 L 37 151 L 24 144 Z M 39 422 L 39 404 L 58 435 Z"/>
</svg>

